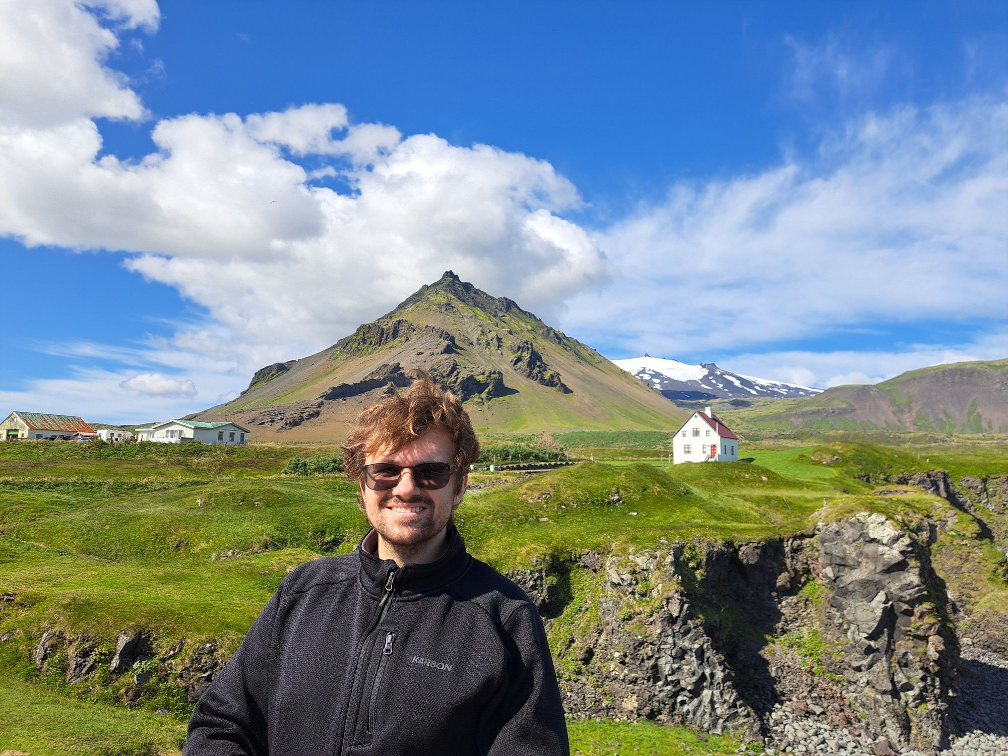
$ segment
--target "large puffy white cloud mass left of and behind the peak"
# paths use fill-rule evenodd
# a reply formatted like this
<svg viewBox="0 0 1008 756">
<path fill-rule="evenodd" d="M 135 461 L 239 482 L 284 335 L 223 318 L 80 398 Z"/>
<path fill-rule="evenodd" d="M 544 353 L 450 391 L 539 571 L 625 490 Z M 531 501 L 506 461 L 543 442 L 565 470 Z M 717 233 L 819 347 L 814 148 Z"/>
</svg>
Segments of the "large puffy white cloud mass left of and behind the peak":
<svg viewBox="0 0 1008 756">
<path fill-rule="evenodd" d="M 102 7 L 120 24 L 156 21 L 141 6 Z M 104 94 L 64 97 L 60 117 L 41 121 L 0 98 L 0 234 L 127 253 L 130 269 L 209 311 L 179 330 L 176 348 L 248 371 L 332 344 L 448 268 L 546 316 L 612 275 L 597 243 L 560 216 L 582 200 L 548 162 L 433 134 L 404 139 L 353 123 L 339 104 L 166 118 L 150 154 L 102 154 L 95 117 L 135 118 L 142 106 L 105 65 L 118 27 L 73 3 L 62 12 L 76 24 L 58 40 L 74 49 L 71 68 Z M 0 36 L 24 34 L 0 25 Z M 54 43 L 32 42 L 41 56 Z M 318 184 L 334 176 L 344 191 Z"/>
</svg>

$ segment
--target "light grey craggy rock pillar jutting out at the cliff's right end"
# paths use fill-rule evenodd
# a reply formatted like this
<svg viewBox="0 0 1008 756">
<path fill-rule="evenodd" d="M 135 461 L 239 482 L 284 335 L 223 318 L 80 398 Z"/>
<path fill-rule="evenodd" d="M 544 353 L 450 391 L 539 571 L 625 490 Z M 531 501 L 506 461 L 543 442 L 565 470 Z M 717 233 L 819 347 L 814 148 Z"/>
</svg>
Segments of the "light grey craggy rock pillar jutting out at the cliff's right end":
<svg viewBox="0 0 1008 756">
<path fill-rule="evenodd" d="M 958 653 L 920 544 L 884 515 L 866 513 L 830 524 L 820 543 L 833 610 L 824 630 L 838 649 L 827 668 L 890 743 L 947 746 Z"/>
</svg>

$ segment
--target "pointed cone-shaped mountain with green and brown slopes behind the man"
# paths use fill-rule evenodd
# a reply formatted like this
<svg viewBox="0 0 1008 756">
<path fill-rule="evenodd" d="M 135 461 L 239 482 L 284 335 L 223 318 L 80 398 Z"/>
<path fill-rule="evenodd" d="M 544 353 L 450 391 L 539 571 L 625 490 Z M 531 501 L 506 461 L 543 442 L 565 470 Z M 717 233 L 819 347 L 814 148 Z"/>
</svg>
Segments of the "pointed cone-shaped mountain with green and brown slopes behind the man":
<svg viewBox="0 0 1008 756">
<path fill-rule="evenodd" d="M 334 440 L 389 383 L 422 368 L 480 432 L 674 429 L 685 412 L 594 349 L 452 271 L 318 354 L 258 370 L 226 404 L 193 415 L 257 439 Z"/>
</svg>

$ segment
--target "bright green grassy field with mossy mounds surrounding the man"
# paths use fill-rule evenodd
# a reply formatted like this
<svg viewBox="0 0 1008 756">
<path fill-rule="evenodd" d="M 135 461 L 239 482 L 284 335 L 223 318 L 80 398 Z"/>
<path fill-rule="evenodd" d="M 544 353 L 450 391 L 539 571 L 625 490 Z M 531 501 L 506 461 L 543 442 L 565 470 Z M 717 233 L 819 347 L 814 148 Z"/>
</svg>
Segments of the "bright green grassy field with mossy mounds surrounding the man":
<svg viewBox="0 0 1008 756">
<path fill-rule="evenodd" d="M 563 435 L 555 440 L 569 449 L 591 445 L 582 451 L 594 450 L 597 462 L 531 477 L 471 476 L 509 481 L 468 496 L 458 512 L 475 555 L 507 572 L 662 540 L 770 538 L 865 509 L 918 516 L 936 500 L 878 496 L 855 476 L 894 479 L 935 467 L 960 477 L 1008 474 L 997 448 L 963 439 L 899 449 L 767 443 L 744 448 L 743 462 L 670 466 L 657 460 L 662 433 Z M 299 445 L 0 445 L 0 593 L 15 597 L 0 604 L 0 751 L 177 753 L 191 706 L 180 688 L 152 684 L 128 709 L 126 675 L 106 671 L 68 685 L 57 664 L 36 669 L 31 652 L 43 627 L 94 638 L 103 654 L 118 633 L 144 629 L 157 648 L 180 644 L 180 656 L 207 641 L 227 656 L 289 569 L 347 552 L 366 530 L 342 476 L 281 475 L 287 460 L 305 454 Z M 936 544 L 935 558 L 951 568 L 980 558 L 987 572 L 963 590 L 996 611 L 1008 605 L 1008 586 L 994 575 L 999 554 L 978 557 L 957 545 L 971 523 L 963 515 L 962 532 Z M 572 574 L 572 600 L 551 625 L 561 674 L 578 668 L 563 656 L 565 634 L 594 616 L 597 588 L 587 575 Z M 721 754 L 738 745 L 649 724 L 572 722 L 571 732 L 573 752 L 585 756 Z"/>
</svg>

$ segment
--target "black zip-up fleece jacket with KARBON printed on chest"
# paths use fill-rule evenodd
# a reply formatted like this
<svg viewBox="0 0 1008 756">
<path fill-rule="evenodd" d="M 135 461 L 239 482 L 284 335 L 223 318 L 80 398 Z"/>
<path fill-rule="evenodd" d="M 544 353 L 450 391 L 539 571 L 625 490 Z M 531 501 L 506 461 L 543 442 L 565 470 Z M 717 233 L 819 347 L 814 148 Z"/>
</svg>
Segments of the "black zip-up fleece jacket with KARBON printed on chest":
<svg viewBox="0 0 1008 756">
<path fill-rule="evenodd" d="M 454 526 L 429 564 L 362 546 L 301 564 L 196 706 L 185 756 L 553 756 L 542 622 Z"/>
</svg>

